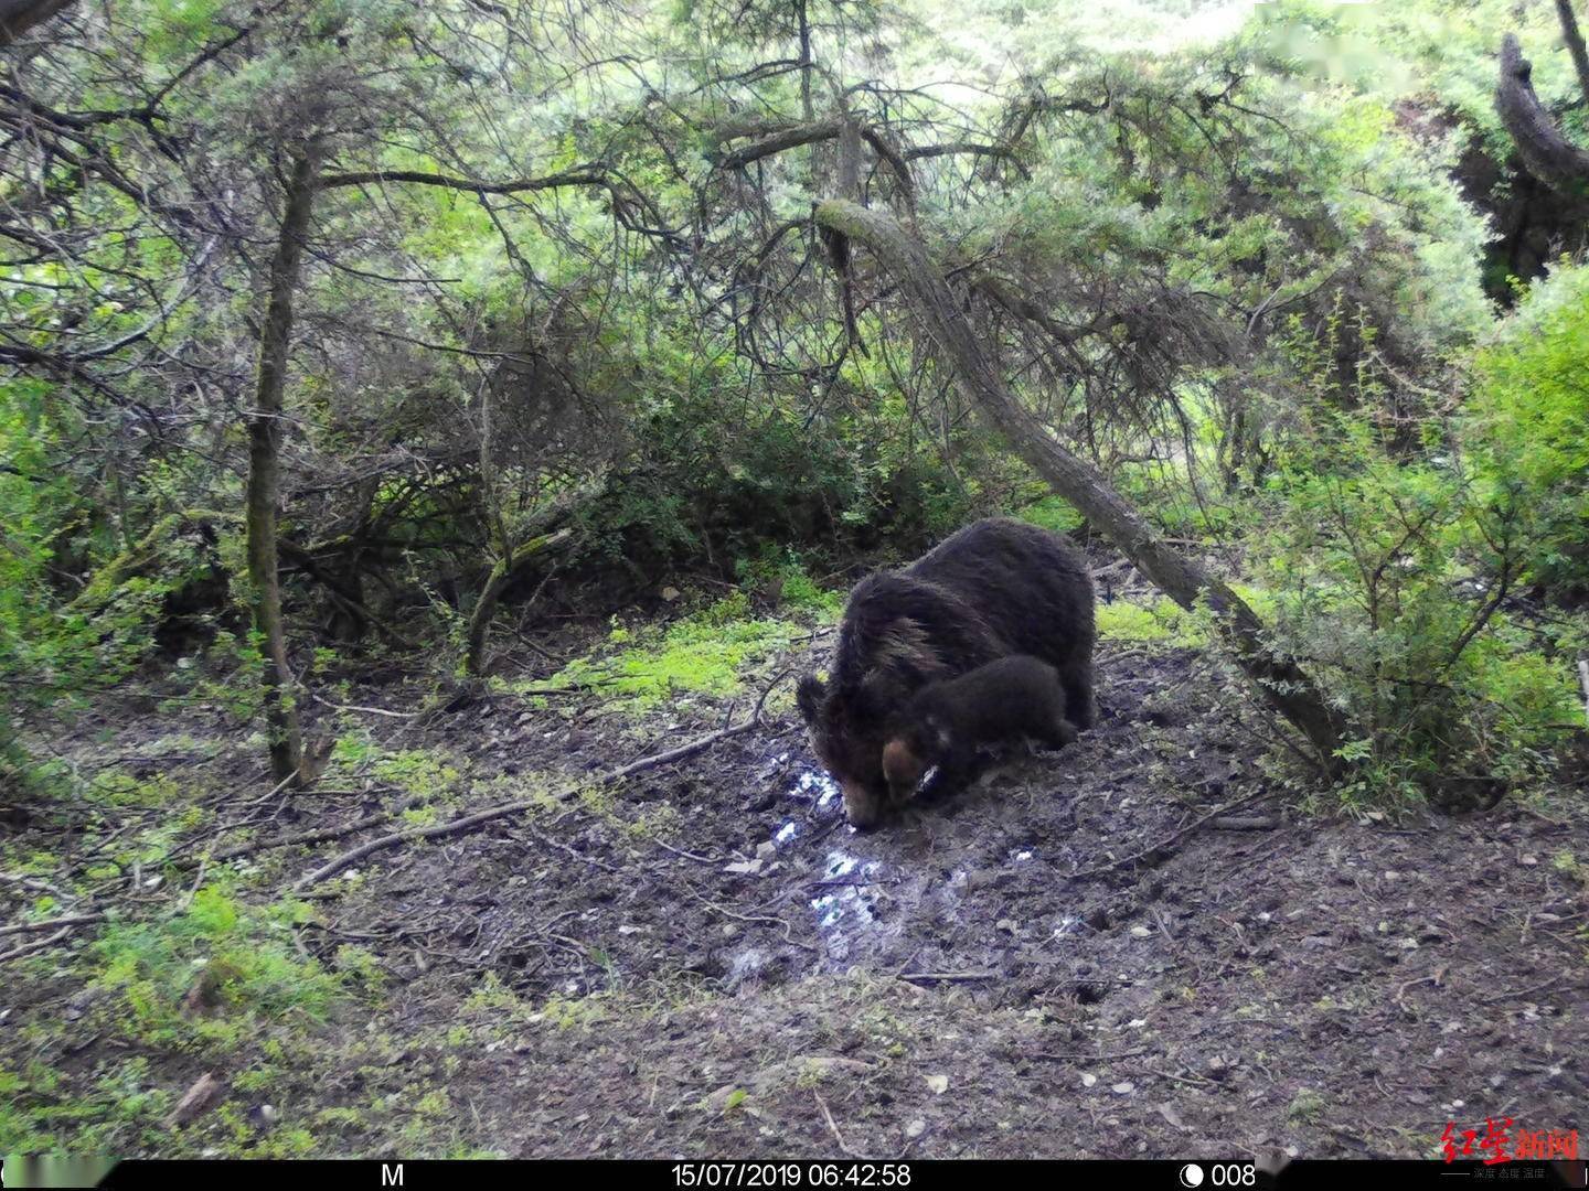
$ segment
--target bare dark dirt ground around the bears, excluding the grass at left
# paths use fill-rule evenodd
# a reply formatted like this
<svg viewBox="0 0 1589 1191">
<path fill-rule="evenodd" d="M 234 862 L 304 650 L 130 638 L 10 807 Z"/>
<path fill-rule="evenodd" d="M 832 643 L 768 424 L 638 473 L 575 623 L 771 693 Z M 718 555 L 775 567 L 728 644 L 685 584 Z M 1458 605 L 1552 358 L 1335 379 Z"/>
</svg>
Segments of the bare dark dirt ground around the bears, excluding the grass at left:
<svg viewBox="0 0 1589 1191">
<path fill-rule="evenodd" d="M 785 664 L 825 654 L 818 638 Z M 421 1080 L 445 1086 L 456 1143 L 507 1156 L 1430 1156 L 1448 1121 L 1589 1127 L 1583 791 L 1306 816 L 1200 654 L 1106 642 L 1100 700 L 1077 745 L 869 834 L 774 710 L 602 799 L 365 858 L 315 892 L 297 939 L 327 962 L 356 943 L 388 975 L 367 1019 L 323 1027 L 327 1056 L 361 1031 L 399 1042 L 275 1088 L 222 1070 L 230 1113 L 143 1145 L 246 1153 L 229 1121 L 257 1126 L 270 1097 L 270 1127 L 316 1121 L 315 1153 L 413 1153 L 432 1142 L 324 1110 Z M 400 681 L 348 699 L 416 702 Z M 494 696 L 423 727 L 361 723 L 466 759 L 474 808 L 725 711 L 636 724 Z M 197 764 L 259 784 L 254 756 Z M 380 805 L 303 799 L 259 835 Z M 284 888 L 383 831 L 251 862 Z M 84 1078 L 113 1058 L 84 1031 L 24 1029 L 70 988 L 65 969 L 17 986 L 0 1058 L 70 1051 Z M 148 1059 L 176 1094 L 203 1066 Z"/>
</svg>

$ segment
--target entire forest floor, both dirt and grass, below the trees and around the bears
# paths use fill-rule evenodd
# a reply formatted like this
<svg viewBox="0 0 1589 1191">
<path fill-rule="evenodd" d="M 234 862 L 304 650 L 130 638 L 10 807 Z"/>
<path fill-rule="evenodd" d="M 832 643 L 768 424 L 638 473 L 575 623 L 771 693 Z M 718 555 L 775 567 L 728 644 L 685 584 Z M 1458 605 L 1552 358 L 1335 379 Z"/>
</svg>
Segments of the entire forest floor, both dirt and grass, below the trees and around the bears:
<svg viewBox="0 0 1589 1191">
<path fill-rule="evenodd" d="M 1429 1156 L 1448 1121 L 1589 1127 L 1583 791 L 1309 818 L 1204 654 L 1122 637 L 1096 730 L 872 834 L 787 681 L 752 730 L 590 783 L 828 642 L 628 711 L 499 683 L 419 719 L 427 689 L 367 667 L 310 708 L 338 745 L 296 799 L 224 696 L 105 699 L 56 743 L 95 797 L 0 827 L 3 921 L 114 919 L 0 967 L 0 1151 Z M 542 805 L 281 900 L 515 799 Z"/>
</svg>

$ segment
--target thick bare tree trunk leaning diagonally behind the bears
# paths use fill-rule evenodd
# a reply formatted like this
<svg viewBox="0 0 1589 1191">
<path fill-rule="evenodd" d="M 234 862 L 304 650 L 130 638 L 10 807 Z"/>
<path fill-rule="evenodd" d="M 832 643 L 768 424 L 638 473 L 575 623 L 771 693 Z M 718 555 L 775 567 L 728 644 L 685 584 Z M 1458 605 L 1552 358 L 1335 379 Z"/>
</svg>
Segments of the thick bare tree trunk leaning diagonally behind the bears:
<svg viewBox="0 0 1589 1191">
<path fill-rule="evenodd" d="M 1076 505 L 1182 608 L 1192 608 L 1198 597 L 1208 599 L 1236 664 L 1257 683 L 1270 705 L 1308 738 L 1320 769 L 1340 772 L 1336 750 L 1343 726 L 1308 675 L 1295 661 L 1270 649 L 1257 615 L 1227 583 L 1166 543 L 1101 472 L 1065 449 L 1015 400 L 922 243 L 890 216 L 856 203 L 820 203 L 815 216 L 831 232 L 866 245 L 893 273 L 961 394 L 1055 492 Z"/>
</svg>

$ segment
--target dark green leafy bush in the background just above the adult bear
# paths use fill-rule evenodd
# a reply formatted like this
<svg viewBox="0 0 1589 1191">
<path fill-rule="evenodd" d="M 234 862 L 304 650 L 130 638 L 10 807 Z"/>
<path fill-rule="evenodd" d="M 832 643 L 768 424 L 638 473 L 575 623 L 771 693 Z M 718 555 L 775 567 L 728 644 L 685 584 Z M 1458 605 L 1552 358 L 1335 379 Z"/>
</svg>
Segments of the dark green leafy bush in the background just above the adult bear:
<svg viewBox="0 0 1589 1191">
<path fill-rule="evenodd" d="M 752 416 L 740 392 L 740 381 L 696 383 L 637 422 L 634 457 L 580 513 L 586 564 L 651 584 L 680 567 L 764 565 L 790 546 L 802 570 L 879 546 L 909 557 L 999 507 L 1019 473 L 976 434 L 957 437 L 952 467 L 909 434 L 909 410 L 885 387 L 834 416 L 802 397 Z"/>
</svg>

